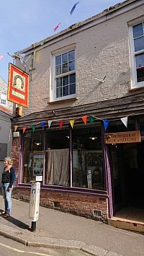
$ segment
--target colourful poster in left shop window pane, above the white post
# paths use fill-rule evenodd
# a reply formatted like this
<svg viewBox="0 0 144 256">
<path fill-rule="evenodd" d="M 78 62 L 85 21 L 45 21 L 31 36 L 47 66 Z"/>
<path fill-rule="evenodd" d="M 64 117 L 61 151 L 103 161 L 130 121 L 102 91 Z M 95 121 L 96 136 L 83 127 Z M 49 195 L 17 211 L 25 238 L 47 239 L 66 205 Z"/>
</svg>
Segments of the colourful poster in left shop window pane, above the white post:
<svg viewBox="0 0 144 256">
<path fill-rule="evenodd" d="M 42 175 L 43 174 L 43 162 L 44 154 L 34 154 L 33 156 L 33 175 Z"/>
</svg>

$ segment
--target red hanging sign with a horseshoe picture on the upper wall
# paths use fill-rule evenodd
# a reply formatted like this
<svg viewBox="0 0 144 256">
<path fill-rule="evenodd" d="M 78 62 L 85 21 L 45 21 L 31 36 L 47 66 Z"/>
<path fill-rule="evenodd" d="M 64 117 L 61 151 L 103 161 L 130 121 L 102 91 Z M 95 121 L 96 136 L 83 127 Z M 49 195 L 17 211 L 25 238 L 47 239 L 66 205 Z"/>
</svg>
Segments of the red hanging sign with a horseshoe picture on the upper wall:
<svg viewBox="0 0 144 256">
<path fill-rule="evenodd" d="M 29 106 L 29 74 L 9 63 L 9 82 L 7 100 Z"/>
</svg>

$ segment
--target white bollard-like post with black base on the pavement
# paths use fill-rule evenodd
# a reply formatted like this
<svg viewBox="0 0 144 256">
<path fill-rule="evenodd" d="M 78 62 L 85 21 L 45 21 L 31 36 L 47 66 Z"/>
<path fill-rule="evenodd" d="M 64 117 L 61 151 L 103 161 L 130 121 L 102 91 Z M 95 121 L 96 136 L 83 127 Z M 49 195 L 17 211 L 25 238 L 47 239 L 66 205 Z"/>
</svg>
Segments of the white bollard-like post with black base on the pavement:
<svg viewBox="0 0 144 256">
<path fill-rule="evenodd" d="M 32 182 L 30 190 L 29 219 L 32 221 L 31 230 L 36 230 L 36 221 L 39 217 L 40 182 Z"/>
</svg>

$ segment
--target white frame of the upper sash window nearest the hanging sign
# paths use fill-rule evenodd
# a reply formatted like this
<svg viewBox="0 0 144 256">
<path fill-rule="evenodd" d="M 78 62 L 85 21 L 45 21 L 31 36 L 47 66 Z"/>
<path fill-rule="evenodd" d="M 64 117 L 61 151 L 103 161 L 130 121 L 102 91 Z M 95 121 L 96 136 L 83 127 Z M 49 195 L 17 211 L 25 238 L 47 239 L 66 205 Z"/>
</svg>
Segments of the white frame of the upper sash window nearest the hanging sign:
<svg viewBox="0 0 144 256">
<path fill-rule="evenodd" d="M 73 98 L 76 98 L 76 93 L 75 94 L 68 94 L 63 97 L 56 97 L 56 77 L 55 77 L 55 57 L 62 55 L 63 53 L 68 53 L 69 51 L 74 50 L 75 51 L 75 69 L 71 72 L 67 72 L 61 75 L 61 77 L 66 76 L 68 74 L 76 74 L 76 47 L 73 48 L 66 48 L 65 50 L 58 51 L 57 53 L 53 54 L 53 90 L 51 91 L 51 97 L 50 97 L 50 102 L 56 102 L 56 101 L 61 101 L 61 100 L 70 100 Z"/>
</svg>

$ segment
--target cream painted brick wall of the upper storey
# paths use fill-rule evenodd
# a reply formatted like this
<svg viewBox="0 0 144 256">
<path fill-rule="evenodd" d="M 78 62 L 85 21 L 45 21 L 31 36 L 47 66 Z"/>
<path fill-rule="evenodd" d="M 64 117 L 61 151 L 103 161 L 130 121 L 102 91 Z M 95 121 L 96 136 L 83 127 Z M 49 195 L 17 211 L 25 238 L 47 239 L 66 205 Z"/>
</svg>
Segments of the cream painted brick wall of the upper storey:
<svg viewBox="0 0 144 256">
<path fill-rule="evenodd" d="M 30 79 L 30 107 L 23 115 L 60 107 L 101 102 L 125 97 L 130 92 L 130 53 L 127 22 L 143 15 L 144 7 L 108 19 L 88 30 L 57 40 L 35 52 L 33 80 Z M 107 17 L 106 17 L 107 18 Z M 59 38 L 59 37 L 58 37 Z M 56 40 L 55 40 L 56 41 Z M 53 91 L 53 53 L 76 47 L 76 96 L 78 100 L 49 105 Z M 29 60 L 31 64 L 31 59 Z M 28 69 L 27 69 L 28 72 Z M 97 79 L 106 76 L 104 83 Z M 142 89 L 143 90 L 143 89 Z"/>
</svg>

